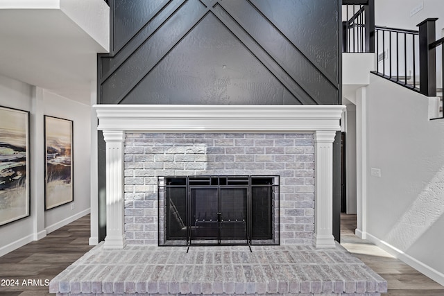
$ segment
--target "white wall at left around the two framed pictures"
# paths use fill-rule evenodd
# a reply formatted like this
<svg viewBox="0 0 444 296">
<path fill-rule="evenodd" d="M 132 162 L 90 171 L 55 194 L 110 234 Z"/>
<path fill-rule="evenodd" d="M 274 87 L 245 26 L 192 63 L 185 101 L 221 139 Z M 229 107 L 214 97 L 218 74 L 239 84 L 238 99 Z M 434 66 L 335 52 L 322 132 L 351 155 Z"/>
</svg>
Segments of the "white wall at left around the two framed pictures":
<svg viewBox="0 0 444 296">
<path fill-rule="evenodd" d="M 0 76 L 0 105 L 31 112 L 31 216 L 0 226 L 0 256 L 89 213 L 91 107 Z M 44 211 L 43 116 L 74 121 L 74 208 Z"/>
</svg>

